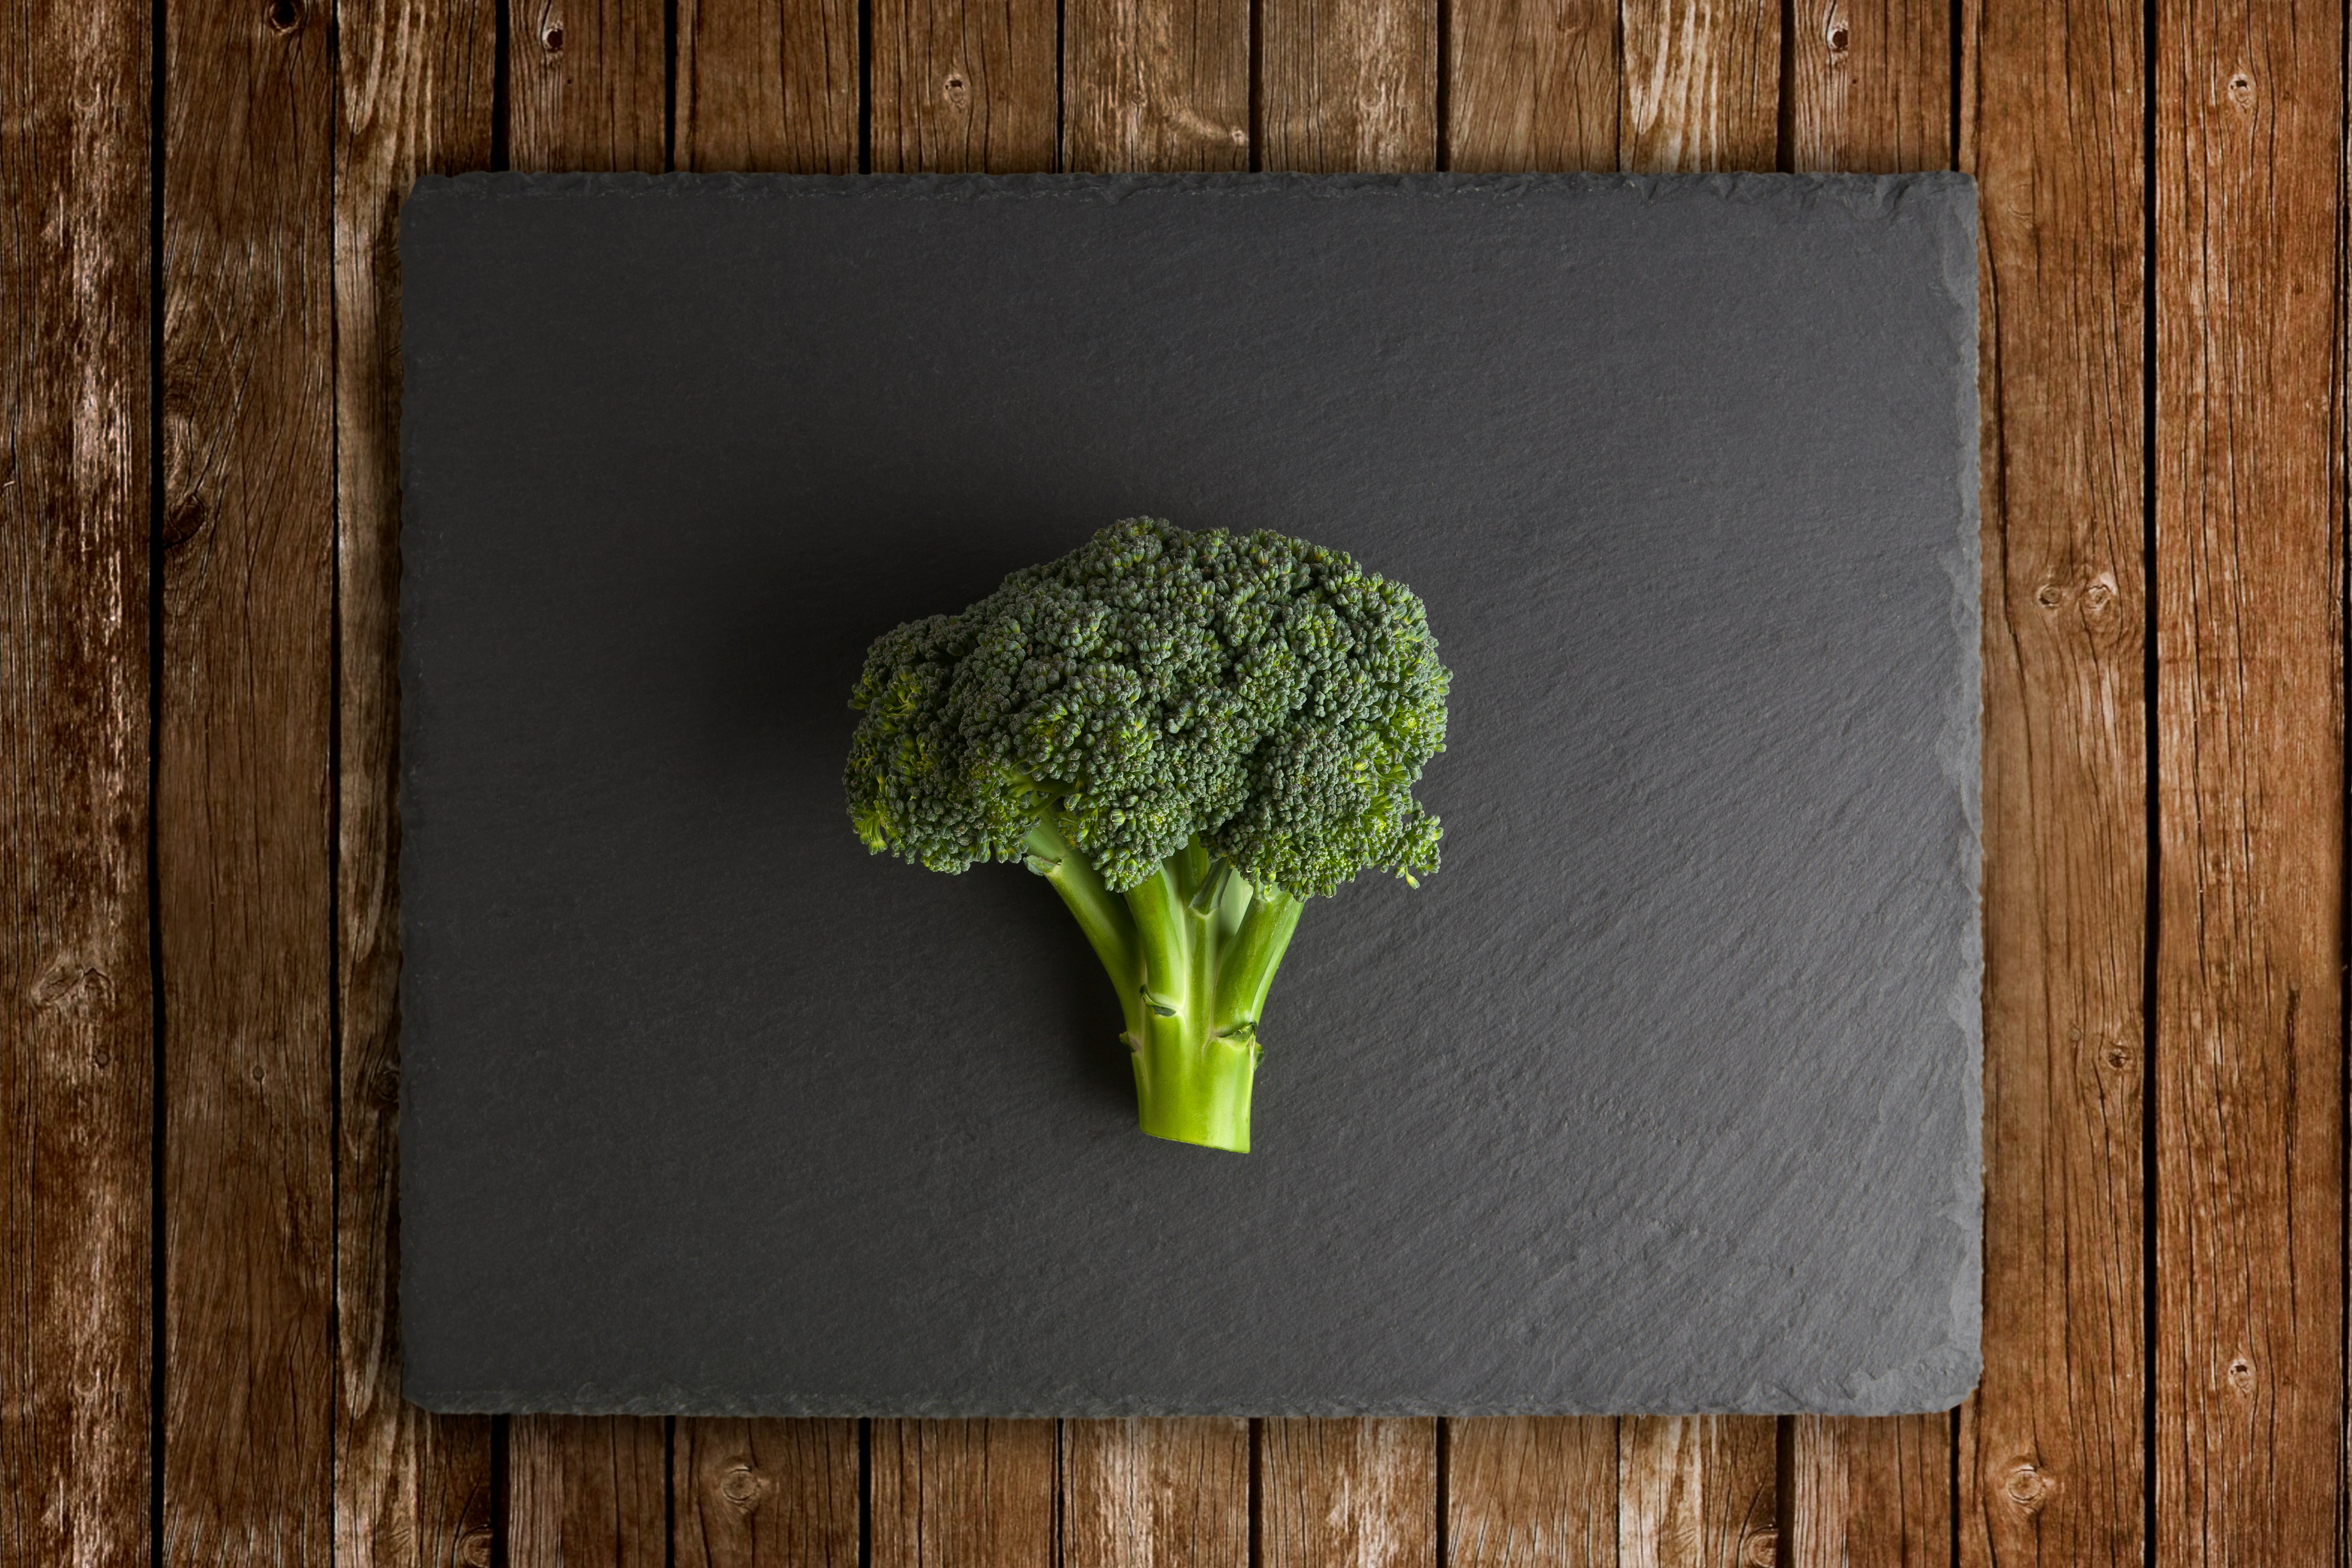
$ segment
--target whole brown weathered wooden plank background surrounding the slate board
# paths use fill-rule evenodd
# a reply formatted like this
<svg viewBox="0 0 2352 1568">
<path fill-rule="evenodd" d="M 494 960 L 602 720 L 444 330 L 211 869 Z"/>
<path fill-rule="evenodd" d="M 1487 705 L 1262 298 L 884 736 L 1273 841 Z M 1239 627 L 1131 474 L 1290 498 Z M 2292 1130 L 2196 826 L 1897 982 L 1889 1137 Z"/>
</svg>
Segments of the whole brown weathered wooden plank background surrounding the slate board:
<svg viewBox="0 0 2352 1568">
<path fill-rule="evenodd" d="M 0 0 L 0 1559 L 2340 1563 L 2345 103 L 2343 0 Z M 1973 172 L 1983 1389 L 402 1406 L 393 214 L 477 167 Z"/>
</svg>

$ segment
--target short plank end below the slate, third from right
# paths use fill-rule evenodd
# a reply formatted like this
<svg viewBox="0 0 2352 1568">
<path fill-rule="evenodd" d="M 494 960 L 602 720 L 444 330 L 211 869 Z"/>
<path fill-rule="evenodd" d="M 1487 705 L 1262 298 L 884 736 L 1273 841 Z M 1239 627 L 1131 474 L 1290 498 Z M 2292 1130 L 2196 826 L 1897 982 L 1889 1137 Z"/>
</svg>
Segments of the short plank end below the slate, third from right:
<svg viewBox="0 0 2352 1568">
<path fill-rule="evenodd" d="M 1449 1422 L 1449 1568 L 1616 1568 L 1616 1427 L 1609 1415 Z"/>
</svg>

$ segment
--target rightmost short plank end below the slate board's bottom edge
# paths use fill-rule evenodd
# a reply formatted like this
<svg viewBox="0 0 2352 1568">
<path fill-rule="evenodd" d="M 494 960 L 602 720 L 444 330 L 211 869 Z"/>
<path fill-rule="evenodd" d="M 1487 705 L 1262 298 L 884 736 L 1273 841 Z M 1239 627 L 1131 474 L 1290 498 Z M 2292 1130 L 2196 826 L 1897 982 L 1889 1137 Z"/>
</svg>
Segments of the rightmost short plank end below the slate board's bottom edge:
<svg viewBox="0 0 2352 1568">
<path fill-rule="evenodd" d="M 1785 1568 L 1952 1561 L 1952 1418 L 1790 1422 Z"/>
</svg>

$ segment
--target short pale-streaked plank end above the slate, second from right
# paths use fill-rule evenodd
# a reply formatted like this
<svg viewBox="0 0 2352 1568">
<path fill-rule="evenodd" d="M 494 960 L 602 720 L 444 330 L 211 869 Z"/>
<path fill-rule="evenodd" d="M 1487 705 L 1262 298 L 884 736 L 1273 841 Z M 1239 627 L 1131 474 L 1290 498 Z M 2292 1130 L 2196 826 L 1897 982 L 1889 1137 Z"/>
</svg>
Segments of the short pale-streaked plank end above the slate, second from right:
<svg viewBox="0 0 2352 1568">
<path fill-rule="evenodd" d="M 1780 146 L 1778 0 L 1623 0 L 1618 167 L 1771 169 Z"/>
</svg>

